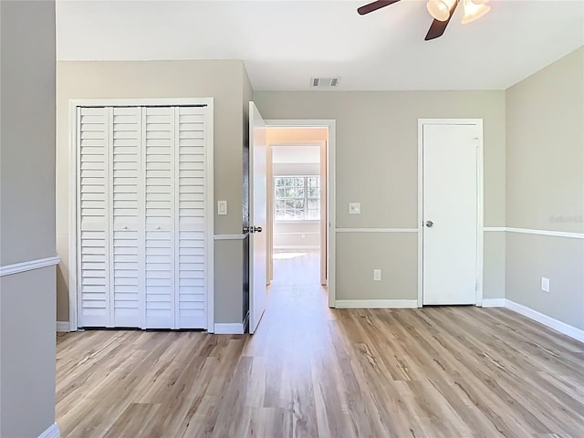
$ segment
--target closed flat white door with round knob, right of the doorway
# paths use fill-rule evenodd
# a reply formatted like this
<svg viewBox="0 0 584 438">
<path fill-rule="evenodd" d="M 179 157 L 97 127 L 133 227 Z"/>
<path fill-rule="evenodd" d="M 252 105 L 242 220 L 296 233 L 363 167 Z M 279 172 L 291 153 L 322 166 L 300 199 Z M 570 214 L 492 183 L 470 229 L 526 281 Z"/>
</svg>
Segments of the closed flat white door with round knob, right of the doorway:
<svg viewBox="0 0 584 438">
<path fill-rule="evenodd" d="M 423 304 L 474 304 L 478 125 L 424 124 L 422 135 Z"/>
</svg>

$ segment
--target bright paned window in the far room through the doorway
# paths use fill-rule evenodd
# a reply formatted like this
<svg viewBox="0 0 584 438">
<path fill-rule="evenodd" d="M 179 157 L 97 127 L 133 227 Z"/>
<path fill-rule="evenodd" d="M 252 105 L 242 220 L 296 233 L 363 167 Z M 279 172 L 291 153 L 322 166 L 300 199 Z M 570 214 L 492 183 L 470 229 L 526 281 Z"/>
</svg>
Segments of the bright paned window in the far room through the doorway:
<svg viewBox="0 0 584 438">
<path fill-rule="evenodd" d="M 319 176 L 276 176 L 274 190 L 276 221 L 320 219 Z"/>
</svg>

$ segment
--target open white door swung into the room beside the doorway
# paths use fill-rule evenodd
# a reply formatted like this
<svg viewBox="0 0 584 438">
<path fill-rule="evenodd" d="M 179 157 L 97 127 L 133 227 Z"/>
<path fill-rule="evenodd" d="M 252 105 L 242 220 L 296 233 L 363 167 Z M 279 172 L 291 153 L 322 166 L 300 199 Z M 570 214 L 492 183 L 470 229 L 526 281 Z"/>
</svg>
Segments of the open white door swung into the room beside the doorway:
<svg viewBox="0 0 584 438">
<path fill-rule="evenodd" d="M 266 310 L 266 122 L 249 102 L 249 332 Z"/>
</svg>

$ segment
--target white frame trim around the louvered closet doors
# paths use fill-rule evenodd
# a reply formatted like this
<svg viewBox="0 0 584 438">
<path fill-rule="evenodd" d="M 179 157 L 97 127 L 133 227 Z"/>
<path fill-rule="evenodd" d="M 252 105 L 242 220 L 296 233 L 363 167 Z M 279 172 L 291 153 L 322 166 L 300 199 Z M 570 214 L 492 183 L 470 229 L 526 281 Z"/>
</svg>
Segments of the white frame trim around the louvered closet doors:
<svg viewBox="0 0 584 438">
<path fill-rule="evenodd" d="M 70 99 L 69 100 L 69 154 L 68 154 L 68 297 L 69 330 L 78 329 L 78 108 L 79 107 L 186 107 L 206 106 L 205 111 L 205 280 L 207 282 L 207 331 L 214 332 L 214 99 Z"/>
</svg>

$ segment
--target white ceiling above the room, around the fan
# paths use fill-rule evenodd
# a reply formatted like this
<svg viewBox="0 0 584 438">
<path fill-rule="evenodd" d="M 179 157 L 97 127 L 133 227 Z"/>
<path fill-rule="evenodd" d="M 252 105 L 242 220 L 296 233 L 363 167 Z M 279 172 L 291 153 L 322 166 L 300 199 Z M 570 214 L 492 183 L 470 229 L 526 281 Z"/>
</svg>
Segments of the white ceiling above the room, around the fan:
<svg viewBox="0 0 584 438">
<path fill-rule="evenodd" d="M 584 45 L 584 0 L 492 0 L 426 42 L 425 2 L 57 0 L 59 60 L 242 59 L 255 90 L 506 89 Z M 462 2 L 461 2 L 462 3 Z"/>
</svg>

